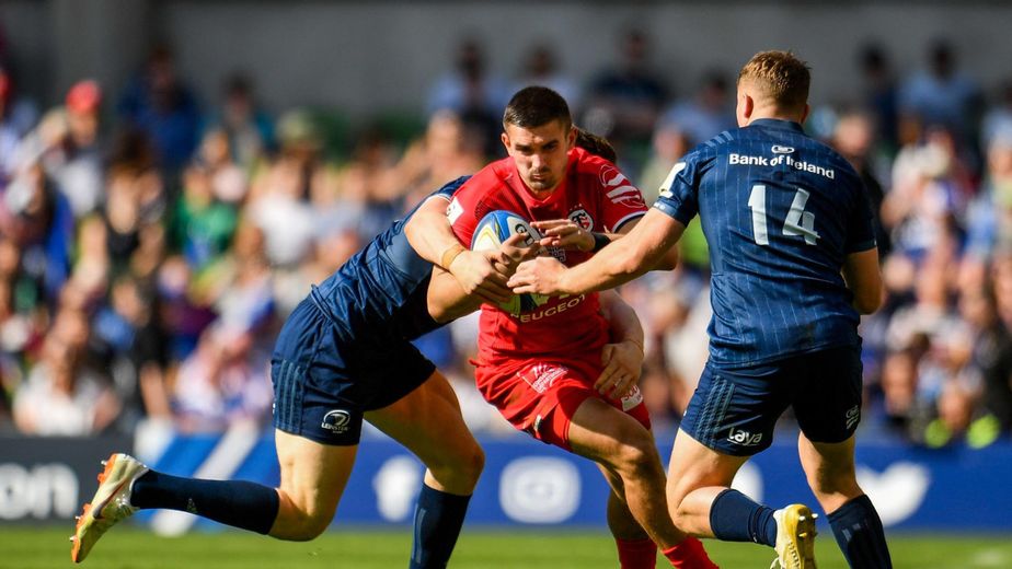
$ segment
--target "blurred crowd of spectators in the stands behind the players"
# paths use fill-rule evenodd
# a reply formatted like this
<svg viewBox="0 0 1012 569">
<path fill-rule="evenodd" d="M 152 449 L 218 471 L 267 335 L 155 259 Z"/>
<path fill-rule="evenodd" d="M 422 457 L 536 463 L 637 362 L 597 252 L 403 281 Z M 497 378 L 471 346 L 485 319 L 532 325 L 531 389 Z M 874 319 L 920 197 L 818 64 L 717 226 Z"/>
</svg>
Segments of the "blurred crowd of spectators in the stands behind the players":
<svg viewBox="0 0 1012 569">
<path fill-rule="evenodd" d="M 644 33 L 616 49 L 589 81 L 548 44 L 501 76 L 464 38 L 416 116 L 359 120 L 267 112 L 241 73 L 197 94 L 165 47 L 122 92 L 82 79 L 41 112 L 0 54 L 0 431 L 266 423 L 288 312 L 419 198 L 501 158 L 519 86 L 565 96 L 652 202 L 679 156 L 735 126 L 734 70 L 676 84 Z M 899 73 L 861 47 L 840 71 L 861 96 L 813 101 L 806 125 L 853 163 L 877 213 L 886 300 L 862 323 L 863 429 L 929 446 L 1012 432 L 1012 80 L 989 92 L 957 56 L 939 40 Z M 622 289 L 647 333 L 641 386 L 659 429 L 677 426 L 706 358 L 697 223 L 681 247 L 678 269 Z M 469 425 L 495 431 L 467 363 L 475 337 L 468 317 L 417 344 Z"/>
</svg>

